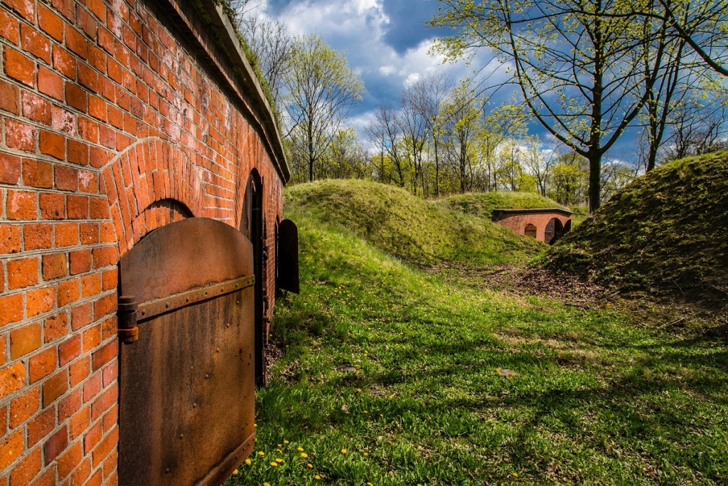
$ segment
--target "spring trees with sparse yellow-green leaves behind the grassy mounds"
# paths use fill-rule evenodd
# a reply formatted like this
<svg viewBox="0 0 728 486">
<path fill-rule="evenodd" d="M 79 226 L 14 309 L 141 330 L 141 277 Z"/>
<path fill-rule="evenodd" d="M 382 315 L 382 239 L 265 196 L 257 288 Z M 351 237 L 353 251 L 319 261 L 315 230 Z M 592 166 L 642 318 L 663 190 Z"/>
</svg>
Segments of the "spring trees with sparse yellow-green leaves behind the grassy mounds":
<svg viewBox="0 0 728 486">
<path fill-rule="evenodd" d="M 687 39 L 668 35 L 664 30 L 673 23 L 656 19 L 657 10 L 650 11 L 652 14 L 632 12 L 629 21 L 614 20 L 624 15 L 608 9 L 573 15 L 568 9 L 558 12 L 574 20 L 569 27 L 573 32 L 561 33 L 565 39 L 579 32 L 601 32 L 603 27 L 593 22 L 607 20 L 614 24 L 612 28 L 629 27 L 625 35 L 641 36 L 641 44 L 601 46 L 611 56 L 607 56 L 613 63 L 611 72 L 596 72 L 598 66 L 589 61 L 589 56 L 596 55 L 594 46 L 579 45 L 583 52 L 574 52 L 589 61 L 584 65 L 588 69 L 575 82 L 566 82 L 564 77 L 562 85 L 554 85 L 562 74 L 538 68 L 539 58 L 524 60 L 521 56 L 519 62 L 528 66 L 515 82 L 528 89 L 524 88 L 518 101 L 499 105 L 491 104 L 483 83 L 431 74 L 405 85 L 399 103 L 379 106 L 360 138 L 348 125 L 348 114 L 361 101 L 364 87 L 344 55 L 320 36 L 290 35 L 285 25 L 264 12 L 248 10 L 249 1 L 238 0 L 237 23 L 256 52 L 258 68 L 280 110 L 294 184 L 327 178 L 371 179 L 423 197 L 533 191 L 564 205 L 596 208 L 655 165 L 726 146 L 728 97 L 722 73 L 705 70 L 705 61 L 690 50 Z M 435 25 L 461 29 L 470 20 L 476 27 L 483 26 L 442 40 L 443 51 L 449 50 L 453 57 L 466 51 L 460 44 L 463 39 L 479 39 L 481 30 L 513 39 L 526 36 L 531 42 L 529 28 L 521 28 L 511 17 L 512 24 L 508 24 L 499 17 L 502 10 L 492 7 L 488 13 L 473 12 L 468 5 L 453 1 L 446 14 L 433 20 Z M 656 33 L 657 27 L 663 31 Z M 609 30 L 612 42 L 622 42 L 621 34 Z M 496 48 L 496 44 L 488 45 Z M 475 42 L 470 47 L 478 50 L 483 44 Z M 519 52 L 528 48 L 527 42 L 518 45 Z M 545 37 L 538 49 L 546 48 L 554 59 L 563 58 L 563 49 L 550 45 Z M 721 61 L 725 52 L 711 50 L 708 54 Z M 503 60 L 520 55 L 501 54 Z M 571 71 L 571 64 L 581 62 L 577 57 L 563 59 L 561 68 Z M 596 79 L 597 75 L 601 78 Z M 604 85 L 605 81 L 609 84 Z M 599 100 L 593 98 L 595 82 L 601 83 Z M 611 91 L 604 92 L 605 87 Z M 601 112 L 595 111 L 597 102 Z M 534 121 L 550 133 L 547 139 L 529 136 L 528 125 Z M 606 157 L 604 152 L 627 129 L 641 133 L 633 154 L 624 157 L 629 162 Z"/>
</svg>

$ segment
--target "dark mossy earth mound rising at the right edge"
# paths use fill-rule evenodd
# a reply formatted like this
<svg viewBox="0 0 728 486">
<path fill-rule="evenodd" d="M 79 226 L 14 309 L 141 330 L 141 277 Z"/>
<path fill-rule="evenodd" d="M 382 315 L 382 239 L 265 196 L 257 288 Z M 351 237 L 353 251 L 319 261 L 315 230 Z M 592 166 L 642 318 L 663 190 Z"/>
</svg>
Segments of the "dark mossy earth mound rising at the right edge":
<svg viewBox="0 0 728 486">
<path fill-rule="evenodd" d="M 553 267 L 622 289 L 718 299 L 728 289 L 728 153 L 678 160 L 614 195 L 550 251 Z"/>
</svg>

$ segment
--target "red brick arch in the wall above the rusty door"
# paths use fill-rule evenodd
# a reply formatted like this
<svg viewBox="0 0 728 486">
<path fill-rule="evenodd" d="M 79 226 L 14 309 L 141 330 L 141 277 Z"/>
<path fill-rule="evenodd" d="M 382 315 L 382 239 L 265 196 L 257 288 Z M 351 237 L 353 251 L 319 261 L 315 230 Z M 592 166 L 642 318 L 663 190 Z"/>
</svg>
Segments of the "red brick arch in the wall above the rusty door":
<svg viewBox="0 0 728 486">
<path fill-rule="evenodd" d="M 189 216 L 210 216 L 199 169 L 176 145 L 143 138 L 101 170 L 119 258 L 152 230 Z"/>
</svg>

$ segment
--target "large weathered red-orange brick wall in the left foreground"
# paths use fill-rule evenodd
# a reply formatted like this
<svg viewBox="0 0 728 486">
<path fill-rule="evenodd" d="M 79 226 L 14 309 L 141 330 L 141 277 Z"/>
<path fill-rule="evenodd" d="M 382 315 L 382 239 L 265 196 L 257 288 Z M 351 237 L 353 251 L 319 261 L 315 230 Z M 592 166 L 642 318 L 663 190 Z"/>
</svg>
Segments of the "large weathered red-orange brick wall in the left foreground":
<svg viewBox="0 0 728 486">
<path fill-rule="evenodd" d="M 0 486 L 116 483 L 116 264 L 143 235 L 238 227 L 256 168 L 273 248 L 280 142 L 190 9 L 0 0 Z"/>
</svg>

